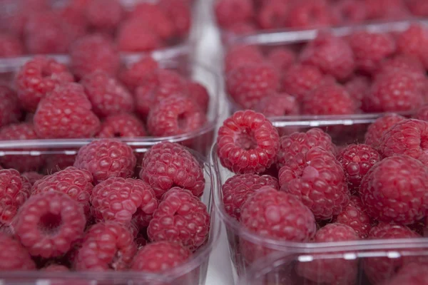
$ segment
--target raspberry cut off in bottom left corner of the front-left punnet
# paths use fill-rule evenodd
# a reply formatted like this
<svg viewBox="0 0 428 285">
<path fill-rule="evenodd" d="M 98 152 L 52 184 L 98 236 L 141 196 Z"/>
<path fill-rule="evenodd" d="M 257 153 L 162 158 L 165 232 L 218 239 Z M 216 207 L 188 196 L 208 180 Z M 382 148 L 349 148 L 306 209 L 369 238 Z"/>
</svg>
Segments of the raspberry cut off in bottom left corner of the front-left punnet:
<svg viewBox="0 0 428 285">
<path fill-rule="evenodd" d="M 8 234 L 0 233 L 0 271 L 30 271 L 36 264 L 22 245 Z"/>
</svg>

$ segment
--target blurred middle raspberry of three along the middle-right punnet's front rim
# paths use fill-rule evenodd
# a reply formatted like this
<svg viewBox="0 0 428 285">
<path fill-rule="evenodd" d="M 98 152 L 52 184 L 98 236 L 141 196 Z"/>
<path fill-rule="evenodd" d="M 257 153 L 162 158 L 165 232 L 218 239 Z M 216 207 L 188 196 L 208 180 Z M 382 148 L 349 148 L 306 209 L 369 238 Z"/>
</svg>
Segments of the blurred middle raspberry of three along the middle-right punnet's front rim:
<svg viewBox="0 0 428 285">
<path fill-rule="evenodd" d="M 324 84 L 308 93 L 302 101 L 302 114 L 345 115 L 357 113 L 357 106 L 345 87 Z"/>
</svg>

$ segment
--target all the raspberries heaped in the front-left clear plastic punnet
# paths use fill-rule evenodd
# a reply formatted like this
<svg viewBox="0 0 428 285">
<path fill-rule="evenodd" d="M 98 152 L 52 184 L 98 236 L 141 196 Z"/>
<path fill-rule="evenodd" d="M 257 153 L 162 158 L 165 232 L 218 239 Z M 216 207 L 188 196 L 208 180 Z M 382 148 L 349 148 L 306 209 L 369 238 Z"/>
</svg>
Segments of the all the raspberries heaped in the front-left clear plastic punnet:
<svg viewBox="0 0 428 285">
<path fill-rule="evenodd" d="M 172 142 L 140 162 L 100 139 L 49 175 L 1 169 L 0 271 L 168 271 L 208 239 L 204 188 L 201 162 Z"/>
</svg>

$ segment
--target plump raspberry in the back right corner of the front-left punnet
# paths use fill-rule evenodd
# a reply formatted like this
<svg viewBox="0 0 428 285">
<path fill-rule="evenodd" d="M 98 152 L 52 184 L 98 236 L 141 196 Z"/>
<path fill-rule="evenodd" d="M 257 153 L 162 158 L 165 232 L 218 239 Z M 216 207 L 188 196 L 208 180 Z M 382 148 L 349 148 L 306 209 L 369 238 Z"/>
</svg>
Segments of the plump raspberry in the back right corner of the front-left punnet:
<svg viewBox="0 0 428 285">
<path fill-rule="evenodd" d="M 140 178 L 151 185 L 158 199 L 174 186 L 188 189 L 197 197 L 203 194 L 202 166 L 182 145 L 157 143 L 144 155 L 142 167 Z"/>
</svg>

